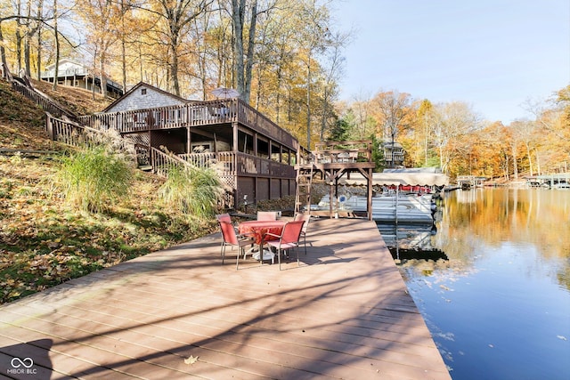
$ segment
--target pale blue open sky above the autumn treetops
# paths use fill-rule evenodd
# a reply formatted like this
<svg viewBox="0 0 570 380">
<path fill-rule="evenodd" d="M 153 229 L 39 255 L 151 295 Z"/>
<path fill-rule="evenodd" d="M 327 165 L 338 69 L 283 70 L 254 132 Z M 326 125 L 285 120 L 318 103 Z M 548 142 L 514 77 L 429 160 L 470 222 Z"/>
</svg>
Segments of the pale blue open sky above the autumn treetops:
<svg viewBox="0 0 570 380">
<path fill-rule="evenodd" d="M 340 98 L 462 101 L 504 125 L 570 85 L 568 0 L 337 0 L 347 46 Z"/>
</svg>

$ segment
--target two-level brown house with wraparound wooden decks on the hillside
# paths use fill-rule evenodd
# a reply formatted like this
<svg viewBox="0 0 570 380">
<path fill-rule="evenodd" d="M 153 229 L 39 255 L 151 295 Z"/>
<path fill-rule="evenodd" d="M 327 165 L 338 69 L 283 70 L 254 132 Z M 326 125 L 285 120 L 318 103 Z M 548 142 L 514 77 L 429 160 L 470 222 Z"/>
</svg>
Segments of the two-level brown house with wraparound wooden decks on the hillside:
<svg viewBox="0 0 570 380">
<path fill-rule="evenodd" d="M 238 206 L 296 192 L 299 143 L 239 98 L 187 101 L 140 83 L 103 112 L 79 117 L 98 130 L 115 129 L 134 142 L 139 161 L 159 172 L 169 159 L 214 166 Z"/>
</svg>

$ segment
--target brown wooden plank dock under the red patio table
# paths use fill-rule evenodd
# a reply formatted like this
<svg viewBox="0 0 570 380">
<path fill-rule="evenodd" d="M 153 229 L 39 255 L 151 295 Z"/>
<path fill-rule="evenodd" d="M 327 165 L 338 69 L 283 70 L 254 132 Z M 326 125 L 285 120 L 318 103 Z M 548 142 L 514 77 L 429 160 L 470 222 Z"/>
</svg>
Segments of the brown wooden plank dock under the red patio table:
<svg viewBox="0 0 570 380">
<path fill-rule="evenodd" d="M 0 378 L 451 379 L 374 222 L 313 221 L 283 271 L 220 239 L 1 306 Z"/>
</svg>

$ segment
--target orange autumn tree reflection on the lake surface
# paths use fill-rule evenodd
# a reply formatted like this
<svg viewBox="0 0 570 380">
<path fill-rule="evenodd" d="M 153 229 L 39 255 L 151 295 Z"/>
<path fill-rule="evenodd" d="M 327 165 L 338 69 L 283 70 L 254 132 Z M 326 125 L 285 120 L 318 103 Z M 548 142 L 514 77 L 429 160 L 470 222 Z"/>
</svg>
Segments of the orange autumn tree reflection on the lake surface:
<svg viewBox="0 0 570 380">
<path fill-rule="evenodd" d="M 490 255 L 505 242 L 532 244 L 545 261 L 557 265 L 556 278 L 570 290 L 570 191 L 476 189 L 444 198 L 433 245 L 457 267 Z M 566 263 L 566 265 L 564 264 Z"/>
</svg>

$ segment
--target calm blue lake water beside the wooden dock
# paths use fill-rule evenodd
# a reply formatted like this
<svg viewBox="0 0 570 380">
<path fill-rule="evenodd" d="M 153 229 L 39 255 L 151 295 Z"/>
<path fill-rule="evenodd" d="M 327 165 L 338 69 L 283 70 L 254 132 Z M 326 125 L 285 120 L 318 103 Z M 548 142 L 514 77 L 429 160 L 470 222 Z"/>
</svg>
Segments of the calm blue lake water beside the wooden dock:
<svg viewBox="0 0 570 380">
<path fill-rule="evenodd" d="M 569 380 L 570 191 L 451 191 L 435 227 L 379 226 L 452 378 Z"/>
</svg>

